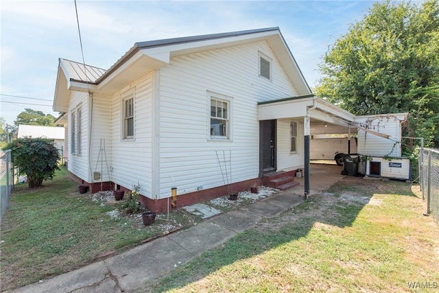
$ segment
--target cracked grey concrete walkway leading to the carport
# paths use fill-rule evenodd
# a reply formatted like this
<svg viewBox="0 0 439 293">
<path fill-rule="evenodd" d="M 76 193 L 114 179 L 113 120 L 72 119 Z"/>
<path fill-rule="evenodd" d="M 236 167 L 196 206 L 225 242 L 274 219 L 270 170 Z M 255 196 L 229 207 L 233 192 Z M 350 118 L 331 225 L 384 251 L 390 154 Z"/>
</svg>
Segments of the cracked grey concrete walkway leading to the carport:
<svg viewBox="0 0 439 293">
<path fill-rule="evenodd" d="M 311 196 L 343 178 L 340 171 L 337 166 L 311 167 Z M 272 218 L 302 203 L 303 178 L 296 179 L 301 182 L 300 185 L 276 196 L 215 215 L 191 228 L 147 242 L 120 255 L 8 292 L 110 293 L 141 288 L 145 281 L 169 274 L 206 250 L 224 244 L 237 233 L 253 228 L 261 219 Z"/>
</svg>

